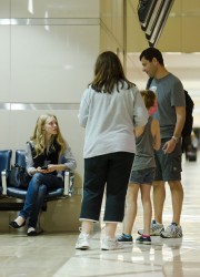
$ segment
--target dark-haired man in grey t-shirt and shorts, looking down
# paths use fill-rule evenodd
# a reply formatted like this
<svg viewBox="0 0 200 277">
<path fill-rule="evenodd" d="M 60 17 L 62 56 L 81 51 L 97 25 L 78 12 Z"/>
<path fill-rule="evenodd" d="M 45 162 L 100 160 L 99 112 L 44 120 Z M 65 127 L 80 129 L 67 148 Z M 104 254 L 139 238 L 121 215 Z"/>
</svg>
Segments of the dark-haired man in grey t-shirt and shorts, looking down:
<svg viewBox="0 0 200 277">
<path fill-rule="evenodd" d="M 181 131 L 186 120 L 186 100 L 181 81 L 171 74 L 163 63 L 161 52 L 148 48 L 140 54 L 142 70 L 152 79 L 150 90 L 156 92 L 160 122 L 161 147 L 156 152 L 156 177 L 153 182 L 154 220 L 151 235 L 163 238 L 182 237 L 180 216 L 183 202 L 181 184 Z M 172 197 L 172 220 L 163 228 L 162 212 L 166 198 L 164 183 L 168 182 Z M 139 230 L 139 233 L 142 233 Z"/>
</svg>

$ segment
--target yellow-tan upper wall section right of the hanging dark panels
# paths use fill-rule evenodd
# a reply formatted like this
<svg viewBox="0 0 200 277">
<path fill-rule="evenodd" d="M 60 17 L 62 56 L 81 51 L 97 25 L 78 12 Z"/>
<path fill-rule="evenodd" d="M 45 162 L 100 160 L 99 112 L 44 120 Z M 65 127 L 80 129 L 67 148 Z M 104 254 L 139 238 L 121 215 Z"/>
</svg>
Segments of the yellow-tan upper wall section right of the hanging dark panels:
<svg viewBox="0 0 200 277">
<path fill-rule="evenodd" d="M 176 0 L 158 47 L 168 52 L 199 52 L 199 0 Z"/>
</svg>

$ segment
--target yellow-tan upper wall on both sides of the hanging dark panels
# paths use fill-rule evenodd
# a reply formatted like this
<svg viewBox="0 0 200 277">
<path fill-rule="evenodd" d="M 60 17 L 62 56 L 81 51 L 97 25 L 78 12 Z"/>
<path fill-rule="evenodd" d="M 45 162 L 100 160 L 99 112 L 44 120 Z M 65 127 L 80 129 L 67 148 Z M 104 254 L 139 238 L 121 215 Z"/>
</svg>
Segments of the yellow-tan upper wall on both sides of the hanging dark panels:
<svg viewBox="0 0 200 277">
<path fill-rule="evenodd" d="M 138 1 L 128 0 L 127 6 L 128 52 L 141 52 L 148 42 L 138 20 Z M 157 47 L 162 52 L 200 52 L 199 14 L 199 0 L 176 0 Z"/>
</svg>

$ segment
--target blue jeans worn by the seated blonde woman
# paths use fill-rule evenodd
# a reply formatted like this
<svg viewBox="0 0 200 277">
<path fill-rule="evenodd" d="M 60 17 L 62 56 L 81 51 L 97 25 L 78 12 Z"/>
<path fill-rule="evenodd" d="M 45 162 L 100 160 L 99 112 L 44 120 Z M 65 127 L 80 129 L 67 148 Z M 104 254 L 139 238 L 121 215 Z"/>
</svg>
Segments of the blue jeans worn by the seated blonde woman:
<svg viewBox="0 0 200 277">
<path fill-rule="evenodd" d="M 38 216 L 48 192 L 62 186 L 63 182 L 57 175 L 36 173 L 32 176 L 27 191 L 23 209 L 19 214 L 24 219 L 29 217 L 29 227 L 37 227 Z"/>
</svg>

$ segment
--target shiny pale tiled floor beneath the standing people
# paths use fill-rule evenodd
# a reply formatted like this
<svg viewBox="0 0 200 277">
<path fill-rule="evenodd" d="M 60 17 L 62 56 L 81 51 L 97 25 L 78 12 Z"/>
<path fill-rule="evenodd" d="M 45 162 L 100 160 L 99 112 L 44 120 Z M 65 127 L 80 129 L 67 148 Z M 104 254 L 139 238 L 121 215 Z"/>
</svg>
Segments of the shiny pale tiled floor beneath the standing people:
<svg viewBox="0 0 200 277">
<path fill-rule="evenodd" d="M 26 233 L 0 234 L 0 277 L 191 277 L 200 276 L 200 162 L 183 161 L 182 211 L 183 238 L 152 237 L 152 245 L 124 246 L 121 250 L 100 250 L 102 232 L 92 234 L 91 250 L 74 250 L 77 234 L 43 233 L 27 237 Z M 171 222 L 171 198 L 167 186 L 164 226 Z M 137 229 L 142 226 L 139 202 Z M 118 228 L 121 233 L 122 225 Z M 96 229 L 99 229 L 96 227 Z"/>
</svg>

